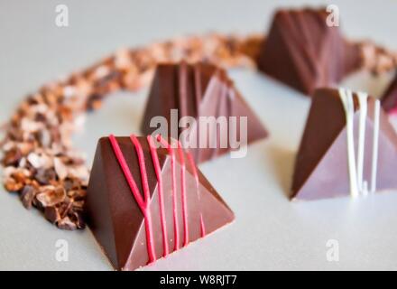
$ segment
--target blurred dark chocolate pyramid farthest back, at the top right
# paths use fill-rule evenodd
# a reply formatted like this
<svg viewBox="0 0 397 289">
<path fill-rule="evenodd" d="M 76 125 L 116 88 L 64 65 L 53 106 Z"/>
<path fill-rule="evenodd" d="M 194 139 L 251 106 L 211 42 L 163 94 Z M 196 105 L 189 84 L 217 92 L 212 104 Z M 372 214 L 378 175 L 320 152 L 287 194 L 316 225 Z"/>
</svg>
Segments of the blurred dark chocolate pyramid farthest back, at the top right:
<svg viewBox="0 0 397 289">
<path fill-rule="evenodd" d="M 326 9 L 278 11 L 260 50 L 259 70 L 312 95 L 314 89 L 337 84 L 358 67 L 355 45 L 337 26 L 328 26 Z"/>
</svg>

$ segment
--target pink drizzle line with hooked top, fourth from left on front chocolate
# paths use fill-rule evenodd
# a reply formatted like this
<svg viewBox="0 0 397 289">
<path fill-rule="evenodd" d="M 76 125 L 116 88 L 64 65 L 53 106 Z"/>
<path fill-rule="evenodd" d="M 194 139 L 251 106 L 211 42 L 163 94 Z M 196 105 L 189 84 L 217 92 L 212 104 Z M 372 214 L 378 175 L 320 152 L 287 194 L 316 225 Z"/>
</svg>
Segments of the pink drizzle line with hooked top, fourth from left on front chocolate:
<svg viewBox="0 0 397 289">
<path fill-rule="evenodd" d="M 177 207 L 177 179 L 175 175 L 175 154 L 169 144 L 162 135 L 157 135 L 157 140 L 164 145 L 171 156 L 171 178 L 172 178 L 172 211 L 173 211 L 173 226 L 174 226 L 174 251 L 180 248 L 180 229 L 178 226 L 178 207 Z"/>
</svg>

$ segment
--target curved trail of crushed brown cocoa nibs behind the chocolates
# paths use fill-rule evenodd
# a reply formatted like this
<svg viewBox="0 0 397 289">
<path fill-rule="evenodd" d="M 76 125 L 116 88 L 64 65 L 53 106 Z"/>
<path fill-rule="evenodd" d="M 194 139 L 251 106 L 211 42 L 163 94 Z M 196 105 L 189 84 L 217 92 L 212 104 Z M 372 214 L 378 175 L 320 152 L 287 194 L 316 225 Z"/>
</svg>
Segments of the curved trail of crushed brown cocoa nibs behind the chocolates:
<svg viewBox="0 0 397 289">
<path fill-rule="evenodd" d="M 23 100 L 3 127 L 0 142 L 5 190 L 19 194 L 23 206 L 42 210 L 58 228 L 85 228 L 84 201 L 89 171 L 73 149 L 71 135 L 88 111 L 101 107 L 117 90 L 136 91 L 149 84 L 158 62 L 209 61 L 224 68 L 255 67 L 263 36 L 190 36 L 114 55 L 69 79 L 49 83 Z M 362 68 L 392 70 L 397 57 L 370 42 L 357 43 Z"/>
</svg>

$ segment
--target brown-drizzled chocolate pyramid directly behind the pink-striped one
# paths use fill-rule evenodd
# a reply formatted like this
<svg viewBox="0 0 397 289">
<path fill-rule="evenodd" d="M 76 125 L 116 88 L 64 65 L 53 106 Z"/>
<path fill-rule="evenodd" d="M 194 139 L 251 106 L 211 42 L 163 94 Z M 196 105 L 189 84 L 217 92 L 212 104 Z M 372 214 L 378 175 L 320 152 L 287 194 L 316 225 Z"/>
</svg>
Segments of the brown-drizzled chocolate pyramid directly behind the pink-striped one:
<svg viewBox="0 0 397 289">
<path fill-rule="evenodd" d="M 175 109 L 178 117 L 173 121 L 171 111 L 175 112 Z M 201 62 L 187 64 L 182 61 L 179 64 L 160 64 L 157 67 L 141 126 L 143 134 L 150 135 L 156 130 L 156 127 L 151 127 L 150 123 L 153 117 L 159 116 L 167 119 L 168 135 L 173 138 L 179 138 L 187 129 L 179 126 L 178 122 L 182 117 L 196 119 L 198 125 L 190 127 L 189 136 L 184 138 L 190 143 L 183 144 L 189 147 L 192 146 L 191 143 L 195 144 L 190 151 L 197 163 L 225 154 L 231 149 L 229 135 L 237 135 L 237 140 L 239 139 L 240 117 L 246 117 L 247 120 L 248 144 L 267 135 L 259 118 L 228 79 L 226 71 Z M 227 122 L 235 118 L 236 126 L 226 125 L 223 128 L 217 126 L 211 133 L 210 128 L 206 131 L 203 126 L 200 128 L 199 119 L 203 117 L 226 117 Z M 235 131 L 232 131 L 232 127 L 235 127 Z M 203 135 L 207 136 L 208 145 L 200 146 L 200 137 L 203 140 Z M 217 142 L 212 147 L 209 145 L 211 137 Z"/>
</svg>

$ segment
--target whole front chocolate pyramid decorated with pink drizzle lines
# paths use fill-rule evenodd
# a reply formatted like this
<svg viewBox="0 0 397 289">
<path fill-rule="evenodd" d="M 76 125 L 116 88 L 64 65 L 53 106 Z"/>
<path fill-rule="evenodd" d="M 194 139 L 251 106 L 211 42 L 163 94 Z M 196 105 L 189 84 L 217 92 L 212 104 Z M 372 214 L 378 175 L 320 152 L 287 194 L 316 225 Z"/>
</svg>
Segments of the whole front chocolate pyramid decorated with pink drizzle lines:
<svg viewBox="0 0 397 289">
<path fill-rule="evenodd" d="M 192 157 L 164 139 L 156 148 L 158 138 L 111 135 L 97 144 L 88 225 L 118 270 L 150 264 L 234 219 Z"/>
</svg>

